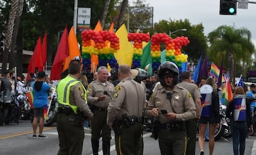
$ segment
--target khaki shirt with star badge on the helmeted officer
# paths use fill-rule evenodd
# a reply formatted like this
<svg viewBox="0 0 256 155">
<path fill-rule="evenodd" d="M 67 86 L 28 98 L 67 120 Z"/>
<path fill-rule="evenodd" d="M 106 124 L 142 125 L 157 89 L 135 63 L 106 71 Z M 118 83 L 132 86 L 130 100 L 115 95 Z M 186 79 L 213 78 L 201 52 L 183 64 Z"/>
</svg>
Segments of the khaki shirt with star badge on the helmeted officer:
<svg viewBox="0 0 256 155">
<path fill-rule="evenodd" d="M 146 109 L 146 115 L 152 117 L 151 109 L 153 107 L 158 108 L 157 120 L 161 124 L 166 124 L 170 119 L 167 119 L 161 110 L 166 110 L 169 112 L 176 113 L 175 121 L 185 121 L 189 119 L 194 119 L 196 116 L 196 109 L 194 100 L 186 89 L 180 86 L 174 86 L 171 101 L 166 96 L 166 90 L 163 86 L 158 86 L 158 89 L 151 95 L 148 101 L 148 107 Z"/>
</svg>

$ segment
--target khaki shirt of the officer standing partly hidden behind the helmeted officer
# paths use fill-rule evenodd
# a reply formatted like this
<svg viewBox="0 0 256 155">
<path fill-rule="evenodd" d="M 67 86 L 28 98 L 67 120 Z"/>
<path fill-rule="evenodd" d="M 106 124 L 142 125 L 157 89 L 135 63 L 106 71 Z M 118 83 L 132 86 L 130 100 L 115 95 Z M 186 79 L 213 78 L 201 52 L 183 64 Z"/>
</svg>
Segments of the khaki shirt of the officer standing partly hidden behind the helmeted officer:
<svg viewBox="0 0 256 155">
<path fill-rule="evenodd" d="M 184 81 L 184 82 L 177 84 L 177 86 L 181 86 L 181 87 L 185 88 L 186 90 L 188 90 L 189 93 L 191 94 L 192 98 L 194 99 L 194 102 L 196 102 L 195 101 L 196 99 L 202 98 L 198 86 L 195 85 L 194 83 L 189 83 L 189 82 Z"/>
</svg>

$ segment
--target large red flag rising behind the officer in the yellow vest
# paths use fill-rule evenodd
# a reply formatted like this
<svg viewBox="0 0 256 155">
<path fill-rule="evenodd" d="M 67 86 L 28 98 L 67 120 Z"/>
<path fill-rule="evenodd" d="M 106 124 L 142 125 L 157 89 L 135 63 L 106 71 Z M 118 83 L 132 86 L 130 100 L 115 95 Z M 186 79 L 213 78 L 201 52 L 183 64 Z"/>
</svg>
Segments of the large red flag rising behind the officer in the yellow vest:
<svg viewBox="0 0 256 155">
<path fill-rule="evenodd" d="M 51 80 L 60 80 L 62 73 L 62 64 L 66 57 L 69 56 L 69 42 L 67 40 L 67 26 L 62 33 L 61 41 L 56 52 L 56 56 L 53 61 L 53 67 L 51 67 Z"/>
</svg>

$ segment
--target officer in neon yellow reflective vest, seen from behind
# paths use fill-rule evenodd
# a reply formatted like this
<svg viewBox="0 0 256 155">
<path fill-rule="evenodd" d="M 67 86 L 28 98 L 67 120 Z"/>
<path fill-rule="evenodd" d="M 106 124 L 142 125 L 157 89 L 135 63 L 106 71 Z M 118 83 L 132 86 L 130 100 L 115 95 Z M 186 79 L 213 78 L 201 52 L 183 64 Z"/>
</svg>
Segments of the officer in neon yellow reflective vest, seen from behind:
<svg viewBox="0 0 256 155">
<path fill-rule="evenodd" d="M 92 119 L 93 113 L 87 105 L 85 88 L 79 81 L 82 63 L 72 60 L 69 63 L 69 75 L 63 78 L 58 86 L 58 121 L 59 134 L 58 154 L 82 154 L 83 117 Z"/>
</svg>

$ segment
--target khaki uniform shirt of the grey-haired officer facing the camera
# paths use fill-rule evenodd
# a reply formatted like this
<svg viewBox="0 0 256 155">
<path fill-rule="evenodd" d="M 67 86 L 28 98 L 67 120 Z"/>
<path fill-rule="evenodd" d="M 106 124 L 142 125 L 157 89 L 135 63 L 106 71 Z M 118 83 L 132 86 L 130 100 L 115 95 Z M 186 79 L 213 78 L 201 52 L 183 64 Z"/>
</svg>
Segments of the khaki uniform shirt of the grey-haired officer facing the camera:
<svg viewBox="0 0 256 155">
<path fill-rule="evenodd" d="M 104 94 L 104 91 L 107 91 L 108 94 L 103 101 L 98 101 L 98 96 Z M 90 104 L 93 104 L 96 107 L 108 107 L 110 102 L 110 96 L 114 92 L 114 85 L 111 82 L 106 82 L 106 85 L 100 82 L 100 80 L 95 80 L 88 85 L 87 88 L 87 101 Z"/>
</svg>

